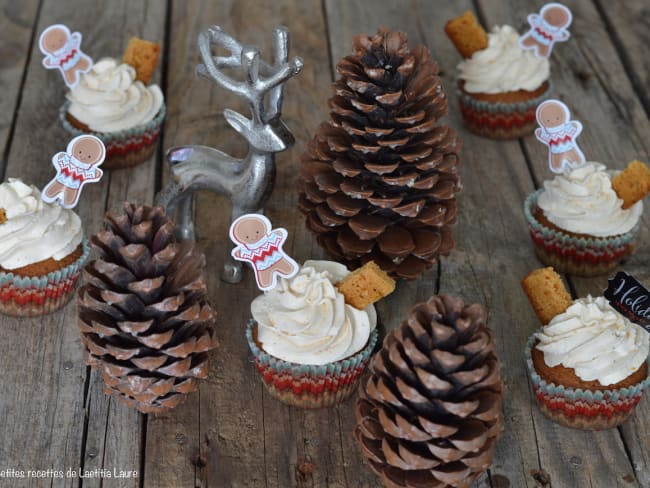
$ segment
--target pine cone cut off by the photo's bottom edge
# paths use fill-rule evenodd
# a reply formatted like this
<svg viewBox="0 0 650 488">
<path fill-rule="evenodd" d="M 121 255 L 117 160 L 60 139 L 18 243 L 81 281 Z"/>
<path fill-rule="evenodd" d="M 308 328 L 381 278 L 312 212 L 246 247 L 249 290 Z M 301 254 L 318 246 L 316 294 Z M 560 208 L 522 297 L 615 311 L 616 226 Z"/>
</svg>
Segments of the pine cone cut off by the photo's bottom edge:
<svg viewBox="0 0 650 488">
<path fill-rule="evenodd" d="M 354 436 L 387 487 L 468 487 L 503 431 L 485 309 L 434 296 L 384 340 L 360 388 Z"/>
</svg>

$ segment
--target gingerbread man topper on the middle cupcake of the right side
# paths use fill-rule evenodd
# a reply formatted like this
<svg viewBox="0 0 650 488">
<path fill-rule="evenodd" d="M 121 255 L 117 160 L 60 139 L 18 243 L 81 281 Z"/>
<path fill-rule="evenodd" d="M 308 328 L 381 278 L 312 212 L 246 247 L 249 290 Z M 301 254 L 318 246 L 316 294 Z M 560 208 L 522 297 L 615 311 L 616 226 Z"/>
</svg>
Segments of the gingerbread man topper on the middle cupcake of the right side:
<svg viewBox="0 0 650 488">
<path fill-rule="evenodd" d="M 571 120 L 569 107 L 559 100 L 546 100 L 535 113 L 539 128 L 535 137 L 548 146 L 548 164 L 554 173 L 585 164 L 585 155 L 578 147 L 576 137 L 582 132 L 582 124 Z"/>
</svg>

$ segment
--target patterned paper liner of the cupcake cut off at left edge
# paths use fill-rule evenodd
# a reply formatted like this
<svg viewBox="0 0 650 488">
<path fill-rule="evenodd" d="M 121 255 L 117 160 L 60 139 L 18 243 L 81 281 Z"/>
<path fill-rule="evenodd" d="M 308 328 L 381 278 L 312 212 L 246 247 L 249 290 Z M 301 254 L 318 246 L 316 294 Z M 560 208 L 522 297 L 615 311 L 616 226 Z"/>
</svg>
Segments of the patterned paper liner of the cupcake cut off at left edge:
<svg viewBox="0 0 650 488">
<path fill-rule="evenodd" d="M 62 308 L 74 293 L 81 267 L 88 259 L 86 239 L 74 263 L 42 276 L 20 276 L 0 271 L 0 312 L 14 317 L 34 317 Z"/>
</svg>

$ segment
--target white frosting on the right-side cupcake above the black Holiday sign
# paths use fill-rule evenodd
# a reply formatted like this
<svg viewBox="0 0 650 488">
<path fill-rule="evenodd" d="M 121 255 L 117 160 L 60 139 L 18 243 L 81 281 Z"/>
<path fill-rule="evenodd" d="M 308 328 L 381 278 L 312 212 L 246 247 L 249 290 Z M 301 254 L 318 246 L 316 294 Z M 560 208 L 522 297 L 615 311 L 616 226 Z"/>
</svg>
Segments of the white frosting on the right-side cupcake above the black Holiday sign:
<svg viewBox="0 0 650 488">
<path fill-rule="evenodd" d="M 561 229 L 596 237 L 625 234 L 643 212 L 642 202 L 623 209 L 605 166 L 593 162 L 545 181 L 537 205 Z"/>
</svg>

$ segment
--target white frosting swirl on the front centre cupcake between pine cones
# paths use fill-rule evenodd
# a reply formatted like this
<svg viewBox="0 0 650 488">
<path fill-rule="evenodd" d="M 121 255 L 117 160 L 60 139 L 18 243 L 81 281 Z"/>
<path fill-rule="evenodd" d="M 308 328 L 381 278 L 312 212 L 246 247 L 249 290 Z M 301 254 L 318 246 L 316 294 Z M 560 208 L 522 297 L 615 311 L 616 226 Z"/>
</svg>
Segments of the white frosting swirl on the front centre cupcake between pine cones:
<svg viewBox="0 0 650 488">
<path fill-rule="evenodd" d="M 320 365 L 359 352 L 377 325 L 375 307 L 345 303 L 334 283 L 349 271 L 332 261 L 305 261 L 291 279 L 251 303 L 264 350 L 285 361 Z"/>
</svg>

